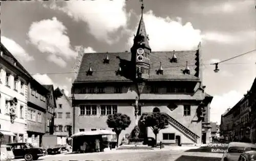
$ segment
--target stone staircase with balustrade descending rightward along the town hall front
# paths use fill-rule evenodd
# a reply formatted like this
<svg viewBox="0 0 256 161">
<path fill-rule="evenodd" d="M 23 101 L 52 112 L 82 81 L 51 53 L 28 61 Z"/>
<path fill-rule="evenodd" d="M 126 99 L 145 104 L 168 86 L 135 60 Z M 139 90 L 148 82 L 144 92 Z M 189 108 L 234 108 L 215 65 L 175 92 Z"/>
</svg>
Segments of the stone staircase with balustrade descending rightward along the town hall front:
<svg viewBox="0 0 256 161">
<path fill-rule="evenodd" d="M 143 113 L 142 117 L 146 116 L 146 115 L 151 115 L 151 114 L 152 113 Z M 169 116 L 167 113 L 162 113 L 162 114 L 165 114 L 166 116 L 168 116 L 170 125 L 172 125 L 174 128 L 176 128 L 181 133 L 183 133 L 183 135 L 185 135 L 191 141 L 193 141 L 194 143 L 197 143 L 197 139 L 200 138 L 200 137 L 198 135 L 196 135 L 196 133 L 189 130 L 187 127 L 182 125 L 179 121 L 175 120 L 173 117 Z"/>
</svg>

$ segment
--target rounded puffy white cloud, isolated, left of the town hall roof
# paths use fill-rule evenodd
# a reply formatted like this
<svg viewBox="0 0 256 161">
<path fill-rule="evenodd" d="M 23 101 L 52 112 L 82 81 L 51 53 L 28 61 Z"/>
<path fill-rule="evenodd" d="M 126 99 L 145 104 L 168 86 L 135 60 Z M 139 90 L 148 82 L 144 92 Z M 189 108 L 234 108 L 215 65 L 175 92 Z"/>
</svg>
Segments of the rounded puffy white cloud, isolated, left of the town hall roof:
<svg viewBox="0 0 256 161">
<path fill-rule="evenodd" d="M 67 36 L 67 28 L 56 17 L 33 22 L 30 26 L 28 37 L 30 42 L 37 46 L 41 52 L 48 52 L 66 59 L 75 58 L 75 52 Z M 58 63 L 60 62 L 57 61 Z M 63 60 L 61 61 L 63 65 Z"/>
</svg>

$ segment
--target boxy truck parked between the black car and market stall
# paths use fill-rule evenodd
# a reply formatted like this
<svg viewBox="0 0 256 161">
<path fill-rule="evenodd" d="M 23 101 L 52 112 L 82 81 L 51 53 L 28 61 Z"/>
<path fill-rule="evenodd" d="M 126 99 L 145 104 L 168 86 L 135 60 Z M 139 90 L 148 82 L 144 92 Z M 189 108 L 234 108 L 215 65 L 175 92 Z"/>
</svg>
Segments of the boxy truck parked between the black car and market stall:
<svg viewBox="0 0 256 161">
<path fill-rule="evenodd" d="M 42 148 L 47 149 L 48 154 L 60 154 L 71 151 L 71 146 L 67 144 L 67 138 L 56 135 L 42 136 Z"/>
</svg>

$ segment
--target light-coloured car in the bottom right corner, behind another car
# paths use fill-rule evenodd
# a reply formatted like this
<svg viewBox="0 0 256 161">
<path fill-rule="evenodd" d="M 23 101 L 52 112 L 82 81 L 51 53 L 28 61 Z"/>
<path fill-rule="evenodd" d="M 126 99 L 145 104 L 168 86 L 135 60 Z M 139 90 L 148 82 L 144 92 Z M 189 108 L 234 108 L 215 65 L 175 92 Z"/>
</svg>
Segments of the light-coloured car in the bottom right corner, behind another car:
<svg viewBox="0 0 256 161">
<path fill-rule="evenodd" d="M 239 156 L 245 151 L 256 150 L 256 145 L 243 142 L 231 142 L 228 144 L 227 151 L 222 156 L 222 161 L 237 161 Z"/>
</svg>

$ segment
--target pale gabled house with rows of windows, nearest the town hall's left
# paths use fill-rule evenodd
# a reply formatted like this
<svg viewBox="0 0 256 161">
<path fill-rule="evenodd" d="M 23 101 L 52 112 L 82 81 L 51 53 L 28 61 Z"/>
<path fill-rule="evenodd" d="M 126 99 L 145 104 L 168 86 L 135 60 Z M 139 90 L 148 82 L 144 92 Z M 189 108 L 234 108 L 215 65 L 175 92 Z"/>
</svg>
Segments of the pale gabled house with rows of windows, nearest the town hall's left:
<svg viewBox="0 0 256 161">
<path fill-rule="evenodd" d="M 57 88 L 54 93 L 56 99 L 54 135 L 68 139 L 72 133 L 72 104 L 64 90 Z"/>
</svg>

